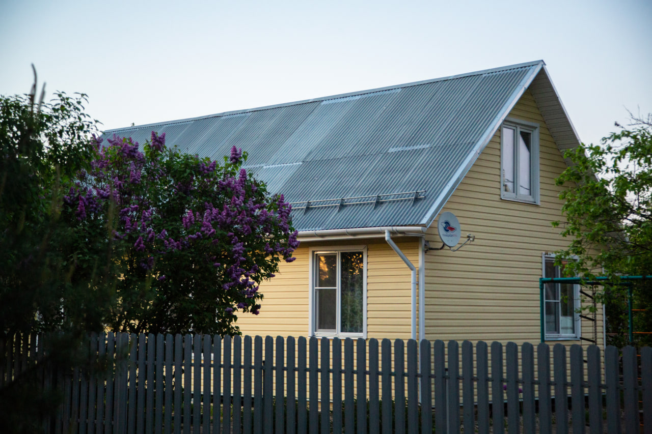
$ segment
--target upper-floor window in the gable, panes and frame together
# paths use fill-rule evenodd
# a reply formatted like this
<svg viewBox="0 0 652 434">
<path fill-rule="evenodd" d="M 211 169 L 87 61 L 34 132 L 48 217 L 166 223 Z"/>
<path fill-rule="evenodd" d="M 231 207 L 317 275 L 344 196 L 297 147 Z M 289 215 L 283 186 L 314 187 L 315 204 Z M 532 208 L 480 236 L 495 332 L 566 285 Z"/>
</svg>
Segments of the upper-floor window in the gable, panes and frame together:
<svg viewBox="0 0 652 434">
<path fill-rule="evenodd" d="M 501 128 L 501 197 L 539 203 L 539 127 L 508 120 Z"/>
</svg>

